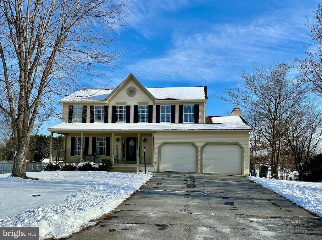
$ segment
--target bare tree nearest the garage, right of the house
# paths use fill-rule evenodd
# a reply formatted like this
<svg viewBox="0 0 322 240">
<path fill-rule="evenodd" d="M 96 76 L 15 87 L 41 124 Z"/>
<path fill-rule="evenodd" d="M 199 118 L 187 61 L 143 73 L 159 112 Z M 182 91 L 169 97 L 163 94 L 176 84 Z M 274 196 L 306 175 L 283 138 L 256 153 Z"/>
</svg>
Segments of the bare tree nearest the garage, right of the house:
<svg viewBox="0 0 322 240">
<path fill-rule="evenodd" d="M 218 98 L 249 109 L 256 116 L 257 127 L 268 141 L 271 172 L 277 178 L 282 140 L 291 131 L 291 122 L 305 107 L 306 88 L 302 79 L 289 78 L 290 64 L 253 65 L 252 73 L 243 70 L 243 82 L 224 91 Z"/>
</svg>

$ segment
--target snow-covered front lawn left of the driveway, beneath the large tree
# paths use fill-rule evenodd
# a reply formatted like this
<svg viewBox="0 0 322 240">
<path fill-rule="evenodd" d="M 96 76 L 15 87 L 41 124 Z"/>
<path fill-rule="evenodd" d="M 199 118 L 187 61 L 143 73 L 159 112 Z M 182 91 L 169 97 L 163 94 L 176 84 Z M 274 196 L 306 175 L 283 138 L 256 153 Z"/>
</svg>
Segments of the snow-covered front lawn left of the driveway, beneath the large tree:
<svg viewBox="0 0 322 240">
<path fill-rule="evenodd" d="M 66 237 L 109 213 L 139 189 L 150 174 L 38 172 L 0 174 L 0 227 L 39 227 L 39 239 Z M 33 197 L 32 195 L 40 195 Z"/>
</svg>

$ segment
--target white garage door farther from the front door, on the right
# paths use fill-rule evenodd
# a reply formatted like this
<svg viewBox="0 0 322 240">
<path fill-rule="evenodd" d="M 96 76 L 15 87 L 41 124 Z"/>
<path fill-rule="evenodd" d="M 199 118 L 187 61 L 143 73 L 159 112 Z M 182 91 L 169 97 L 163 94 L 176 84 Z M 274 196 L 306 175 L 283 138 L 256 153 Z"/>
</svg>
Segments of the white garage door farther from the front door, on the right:
<svg viewBox="0 0 322 240">
<path fill-rule="evenodd" d="M 242 173 L 242 149 L 238 145 L 209 144 L 203 150 L 204 173 Z"/>
</svg>

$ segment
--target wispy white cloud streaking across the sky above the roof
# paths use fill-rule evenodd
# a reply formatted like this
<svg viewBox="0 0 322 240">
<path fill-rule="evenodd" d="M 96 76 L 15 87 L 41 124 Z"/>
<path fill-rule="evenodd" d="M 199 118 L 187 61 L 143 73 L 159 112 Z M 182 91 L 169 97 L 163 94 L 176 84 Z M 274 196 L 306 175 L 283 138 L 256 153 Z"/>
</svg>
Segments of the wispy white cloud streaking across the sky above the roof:
<svg viewBox="0 0 322 240">
<path fill-rule="evenodd" d="M 300 8 L 299 5 L 292 7 Z M 200 19 L 181 22 L 171 34 L 171 48 L 155 58 L 129 62 L 127 70 L 149 80 L 189 82 L 193 79 L 196 84 L 231 81 L 254 61 L 289 60 L 303 52 L 297 51 L 308 41 L 305 14 L 314 9 L 285 9 L 243 22 L 223 24 Z M 153 10 L 150 8 L 150 14 Z"/>
</svg>

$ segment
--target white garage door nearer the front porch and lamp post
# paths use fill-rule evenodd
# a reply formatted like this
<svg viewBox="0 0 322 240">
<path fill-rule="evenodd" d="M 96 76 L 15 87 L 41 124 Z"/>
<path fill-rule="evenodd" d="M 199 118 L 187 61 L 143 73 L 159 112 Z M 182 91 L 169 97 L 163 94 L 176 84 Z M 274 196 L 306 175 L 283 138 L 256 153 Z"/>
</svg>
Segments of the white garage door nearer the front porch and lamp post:
<svg viewBox="0 0 322 240">
<path fill-rule="evenodd" d="M 193 145 L 165 144 L 160 152 L 160 171 L 196 172 L 196 148 Z"/>
</svg>

